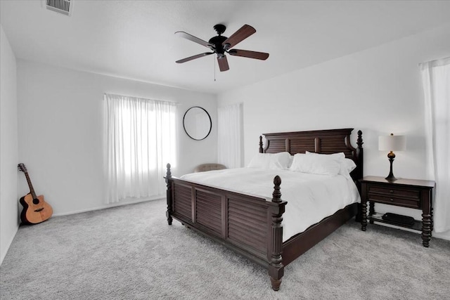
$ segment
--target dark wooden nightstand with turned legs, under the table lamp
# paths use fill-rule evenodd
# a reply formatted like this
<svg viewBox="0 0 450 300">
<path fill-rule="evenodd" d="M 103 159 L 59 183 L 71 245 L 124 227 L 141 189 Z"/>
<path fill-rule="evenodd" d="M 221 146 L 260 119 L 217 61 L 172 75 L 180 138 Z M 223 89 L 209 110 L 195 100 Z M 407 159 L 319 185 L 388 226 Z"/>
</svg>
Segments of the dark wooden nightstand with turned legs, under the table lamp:
<svg viewBox="0 0 450 300">
<path fill-rule="evenodd" d="M 361 182 L 361 230 L 366 231 L 367 220 L 371 224 L 374 221 L 390 223 L 421 231 L 423 246 L 429 246 L 433 230 L 432 190 L 435 188 L 435 181 L 415 179 L 387 181 L 385 178 L 377 176 L 366 176 L 359 181 Z M 367 202 L 369 202 L 368 216 Z M 375 203 L 421 209 L 422 221 L 415 220 L 413 226 L 385 221 L 380 214 L 375 213 Z"/>
</svg>

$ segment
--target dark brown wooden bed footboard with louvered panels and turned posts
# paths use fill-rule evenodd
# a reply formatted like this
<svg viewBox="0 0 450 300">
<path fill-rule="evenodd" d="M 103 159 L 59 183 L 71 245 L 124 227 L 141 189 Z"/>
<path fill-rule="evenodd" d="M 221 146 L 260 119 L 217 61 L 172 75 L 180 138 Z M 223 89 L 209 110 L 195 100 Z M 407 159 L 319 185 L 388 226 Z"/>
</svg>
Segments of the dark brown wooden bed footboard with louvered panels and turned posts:
<svg viewBox="0 0 450 300">
<path fill-rule="evenodd" d="M 224 244 L 269 270 L 272 289 L 283 278 L 281 178 L 274 178 L 271 200 L 233 193 L 172 176 L 167 164 L 167 223 L 172 218 Z"/>
</svg>

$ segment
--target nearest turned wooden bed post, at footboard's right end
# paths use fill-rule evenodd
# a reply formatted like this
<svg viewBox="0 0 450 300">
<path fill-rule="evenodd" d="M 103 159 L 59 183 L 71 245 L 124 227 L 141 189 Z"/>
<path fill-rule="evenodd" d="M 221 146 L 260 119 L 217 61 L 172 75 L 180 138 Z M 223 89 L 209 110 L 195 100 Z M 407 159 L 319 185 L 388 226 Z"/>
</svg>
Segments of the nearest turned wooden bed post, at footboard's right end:
<svg viewBox="0 0 450 300">
<path fill-rule="evenodd" d="M 281 200 L 280 192 L 281 178 L 275 176 L 274 178 L 274 193 L 272 202 L 278 205 L 271 207 L 271 245 L 270 245 L 270 257 L 269 257 L 269 276 L 272 284 L 272 289 L 278 291 L 281 285 L 281 278 L 284 275 L 284 266 L 281 253 L 283 252 L 283 212 L 285 211 L 286 202 Z"/>
</svg>

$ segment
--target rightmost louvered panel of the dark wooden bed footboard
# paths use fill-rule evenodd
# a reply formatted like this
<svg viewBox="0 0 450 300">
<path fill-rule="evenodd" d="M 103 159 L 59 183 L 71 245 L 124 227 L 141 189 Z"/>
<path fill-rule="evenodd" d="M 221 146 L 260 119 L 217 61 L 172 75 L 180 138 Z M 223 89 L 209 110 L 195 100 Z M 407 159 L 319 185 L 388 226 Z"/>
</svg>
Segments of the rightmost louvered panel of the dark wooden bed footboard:
<svg viewBox="0 0 450 300">
<path fill-rule="evenodd" d="M 228 238 L 238 244 L 252 247 L 255 252 L 265 249 L 267 242 L 266 207 L 243 203 L 241 200 L 228 200 Z"/>
</svg>

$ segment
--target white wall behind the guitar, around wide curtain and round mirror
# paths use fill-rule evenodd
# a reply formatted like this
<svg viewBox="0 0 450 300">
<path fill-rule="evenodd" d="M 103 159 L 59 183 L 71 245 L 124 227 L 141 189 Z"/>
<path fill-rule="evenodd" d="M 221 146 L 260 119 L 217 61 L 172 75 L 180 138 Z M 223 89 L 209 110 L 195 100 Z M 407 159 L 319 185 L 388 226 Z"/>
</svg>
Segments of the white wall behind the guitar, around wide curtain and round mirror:
<svg viewBox="0 0 450 300">
<path fill-rule="evenodd" d="M 103 199 L 103 93 L 180 103 L 174 176 L 217 161 L 216 96 L 18 60 L 19 158 L 54 214 L 108 207 Z M 203 141 L 188 138 L 181 123 L 194 105 L 212 117 L 212 132 Z M 27 193 L 25 179 L 19 190 Z"/>
</svg>

